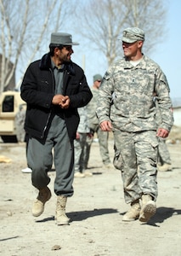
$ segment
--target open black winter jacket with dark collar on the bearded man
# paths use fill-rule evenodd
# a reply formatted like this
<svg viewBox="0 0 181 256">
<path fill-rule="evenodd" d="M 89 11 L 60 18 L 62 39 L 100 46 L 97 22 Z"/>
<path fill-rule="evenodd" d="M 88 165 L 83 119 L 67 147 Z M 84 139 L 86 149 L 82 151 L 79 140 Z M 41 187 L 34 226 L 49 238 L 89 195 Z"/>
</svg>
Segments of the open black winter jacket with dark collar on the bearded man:
<svg viewBox="0 0 181 256">
<path fill-rule="evenodd" d="M 27 68 L 20 95 L 27 103 L 25 131 L 31 137 L 45 138 L 48 121 L 54 113 L 65 119 L 70 139 L 76 137 L 77 108 L 87 105 L 93 95 L 82 68 L 72 61 L 65 63 L 63 84 L 63 95 L 69 96 L 71 101 L 67 109 L 52 104 L 55 82 L 50 54 L 43 55 L 41 60 L 32 62 Z"/>
</svg>

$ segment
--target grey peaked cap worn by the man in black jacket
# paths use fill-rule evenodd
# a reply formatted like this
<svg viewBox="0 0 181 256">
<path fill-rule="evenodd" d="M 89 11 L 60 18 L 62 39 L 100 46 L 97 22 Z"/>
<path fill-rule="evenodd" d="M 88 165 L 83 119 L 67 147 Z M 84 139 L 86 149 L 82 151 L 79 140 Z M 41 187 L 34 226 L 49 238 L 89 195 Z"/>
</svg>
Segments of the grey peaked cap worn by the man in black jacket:
<svg viewBox="0 0 181 256">
<path fill-rule="evenodd" d="M 71 34 L 63 33 L 63 32 L 54 32 L 54 33 L 52 33 L 50 44 L 78 45 L 78 43 L 73 43 L 72 42 Z"/>
</svg>

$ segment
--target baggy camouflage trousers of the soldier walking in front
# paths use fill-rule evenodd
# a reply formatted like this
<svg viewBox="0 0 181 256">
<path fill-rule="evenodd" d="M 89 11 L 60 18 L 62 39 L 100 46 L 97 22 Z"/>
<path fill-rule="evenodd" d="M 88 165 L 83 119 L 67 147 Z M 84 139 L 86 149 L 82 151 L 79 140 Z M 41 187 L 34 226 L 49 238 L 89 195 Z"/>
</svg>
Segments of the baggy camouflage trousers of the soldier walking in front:
<svg viewBox="0 0 181 256">
<path fill-rule="evenodd" d="M 115 130 L 116 169 L 122 172 L 124 198 L 131 203 L 143 194 L 157 197 L 156 131 L 127 132 Z"/>
</svg>

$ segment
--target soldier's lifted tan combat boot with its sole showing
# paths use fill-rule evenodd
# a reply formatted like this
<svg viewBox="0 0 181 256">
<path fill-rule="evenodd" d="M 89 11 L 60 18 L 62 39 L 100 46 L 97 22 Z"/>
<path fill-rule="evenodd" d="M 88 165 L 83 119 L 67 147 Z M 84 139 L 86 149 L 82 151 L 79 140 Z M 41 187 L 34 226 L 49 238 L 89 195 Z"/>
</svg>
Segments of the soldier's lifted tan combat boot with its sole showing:
<svg viewBox="0 0 181 256">
<path fill-rule="evenodd" d="M 142 207 L 139 214 L 139 221 L 148 222 L 156 213 L 156 202 L 153 201 L 151 195 L 142 195 Z"/>
</svg>

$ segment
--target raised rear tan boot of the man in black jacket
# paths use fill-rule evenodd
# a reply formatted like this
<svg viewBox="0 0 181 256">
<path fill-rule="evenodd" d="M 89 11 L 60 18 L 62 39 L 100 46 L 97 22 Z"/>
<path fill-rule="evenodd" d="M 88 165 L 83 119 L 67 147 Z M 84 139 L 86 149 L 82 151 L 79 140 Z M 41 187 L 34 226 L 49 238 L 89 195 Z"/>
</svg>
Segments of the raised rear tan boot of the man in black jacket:
<svg viewBox="0 0 181 256">
<path fill-rule="evenodd" d="M 42 214 L 44 211 L 44 205 L 46 201 L 50 199 L 50 197 L 51 191 L 48 189 L 48 187 L 39 190 L 37 201 L 35 201 L 32 206 L 32 215 L 34 217 L 38 217 Z"/>
</svg>

